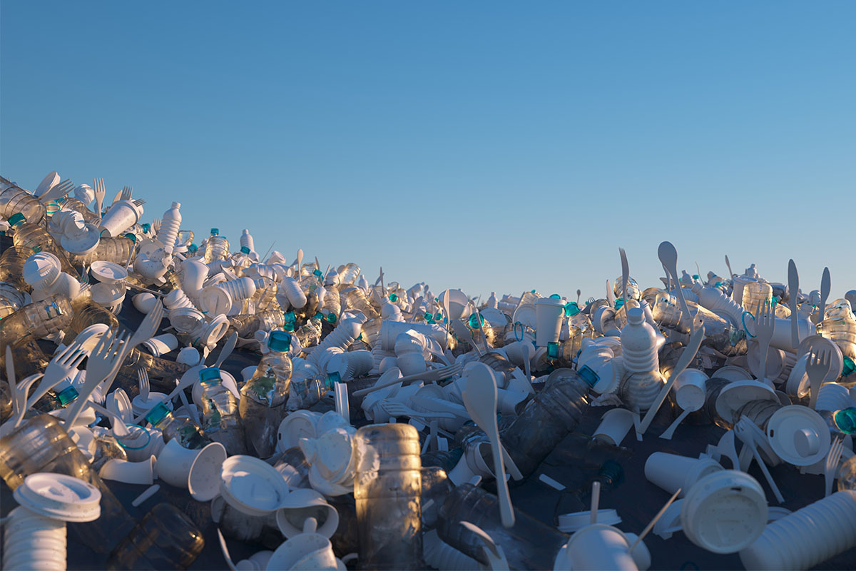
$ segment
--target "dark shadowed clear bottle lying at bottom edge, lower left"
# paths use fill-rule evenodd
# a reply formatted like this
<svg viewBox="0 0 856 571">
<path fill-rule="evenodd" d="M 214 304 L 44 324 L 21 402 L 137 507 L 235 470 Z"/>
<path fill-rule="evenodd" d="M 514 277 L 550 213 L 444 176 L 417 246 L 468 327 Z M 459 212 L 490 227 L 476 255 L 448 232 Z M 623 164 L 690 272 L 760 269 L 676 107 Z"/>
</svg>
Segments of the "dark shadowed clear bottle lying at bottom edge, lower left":
<svg viewBox="0 0 856 571">
<path fill-rule="evenodd" d="M 110 553 L 108 569 L 186 569 L 205 548 L 193 521 L 158 503 Z"/>
</svg>

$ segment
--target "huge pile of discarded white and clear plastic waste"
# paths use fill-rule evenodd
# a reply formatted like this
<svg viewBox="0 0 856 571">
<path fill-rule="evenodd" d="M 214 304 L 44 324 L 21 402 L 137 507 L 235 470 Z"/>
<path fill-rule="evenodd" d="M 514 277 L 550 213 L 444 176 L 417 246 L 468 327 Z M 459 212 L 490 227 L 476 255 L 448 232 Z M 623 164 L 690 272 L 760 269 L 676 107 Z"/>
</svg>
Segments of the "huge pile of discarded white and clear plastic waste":
<svg viewBox="0 0 856 571">
<path fill-rule="evenodd" d="M 856 562 L 829 271 L 478 303 L 144 204 L 0 177 L 3 568 Z"/>
</svg>

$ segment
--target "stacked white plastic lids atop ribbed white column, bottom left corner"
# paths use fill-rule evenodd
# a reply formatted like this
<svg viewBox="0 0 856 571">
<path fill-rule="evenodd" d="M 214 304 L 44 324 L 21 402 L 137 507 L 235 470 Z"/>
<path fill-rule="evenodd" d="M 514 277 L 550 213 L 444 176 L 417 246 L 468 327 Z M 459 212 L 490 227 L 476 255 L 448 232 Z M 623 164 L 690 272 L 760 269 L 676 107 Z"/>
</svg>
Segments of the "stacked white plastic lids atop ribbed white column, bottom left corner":
<svg viewBox="0 0 856 571">
<path fill-rule="evenodd" d="M 98 488 L 65 474 L 30 474 L 13 496 L 25 508 L 54 520 L 92 521 L 101 515 Z"/>
</svg>

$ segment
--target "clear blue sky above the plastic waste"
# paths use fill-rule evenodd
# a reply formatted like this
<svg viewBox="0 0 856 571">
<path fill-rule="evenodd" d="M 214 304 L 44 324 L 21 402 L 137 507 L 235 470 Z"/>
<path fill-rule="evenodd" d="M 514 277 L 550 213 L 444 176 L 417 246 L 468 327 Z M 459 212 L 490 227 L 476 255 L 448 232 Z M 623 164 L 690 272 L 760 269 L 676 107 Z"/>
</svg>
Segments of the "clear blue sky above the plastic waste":
<svg viewBox="0 0 856 571">
<path fill-rule="evenodd" d="M 0 172 L 439 293 L 856 288 L 856 2 L 0 3 Z M 201 238 L 200 238 L 201 239 Z M 199 239 L 198 239 L 199 241 Z M 235 246 L 237 249 L 237 246 Z"/>
</svg>

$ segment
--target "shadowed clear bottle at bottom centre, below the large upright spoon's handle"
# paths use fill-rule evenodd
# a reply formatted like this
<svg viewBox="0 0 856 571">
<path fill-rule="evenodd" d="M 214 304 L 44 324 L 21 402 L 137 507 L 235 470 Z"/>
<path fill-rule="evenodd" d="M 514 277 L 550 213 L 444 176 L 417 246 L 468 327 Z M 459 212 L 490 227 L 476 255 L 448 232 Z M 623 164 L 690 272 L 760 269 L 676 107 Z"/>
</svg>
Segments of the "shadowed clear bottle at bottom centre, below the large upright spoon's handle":
<svg viewBox="0 0 856 571">
<path fill-rule="evenodd" d="M 461 526 L 461 521 L 469 521 L 502 546 L 509 568 L 552 569 L 556 554 L 569 536 L 519 509 L 514 509 L 514 518 L 512 528 L 502 526 L 499 499 L 472 484 L 464 484 L 451 491 L 443 502 L 437 518 L 437 532 L 447 544 L 487 565 L 489 562 L 482 550 L 484 543 L 474 532 Z"/>
</svg>

